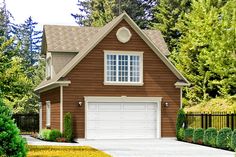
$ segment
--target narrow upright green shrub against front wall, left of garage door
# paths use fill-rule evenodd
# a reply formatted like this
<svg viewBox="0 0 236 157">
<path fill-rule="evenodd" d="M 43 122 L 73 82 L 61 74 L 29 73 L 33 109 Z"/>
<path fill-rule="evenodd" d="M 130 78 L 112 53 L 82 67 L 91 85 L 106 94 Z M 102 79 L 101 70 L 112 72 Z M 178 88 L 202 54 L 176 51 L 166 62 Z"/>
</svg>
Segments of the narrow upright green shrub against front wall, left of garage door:
<svg viewBox="0 0 236 157">
<path fill-rule="evenodd" d="M 72 130 L 73 130 L 72 116 L 71 116 L 71 113 L 68 112 L 68 113 L 66 113 L 66 115 L 64 117 L 64 132 L 63 132 L 63 135 L 68 142 L 72 141 L 72 136 L 73 136 Z"/>
</svg>

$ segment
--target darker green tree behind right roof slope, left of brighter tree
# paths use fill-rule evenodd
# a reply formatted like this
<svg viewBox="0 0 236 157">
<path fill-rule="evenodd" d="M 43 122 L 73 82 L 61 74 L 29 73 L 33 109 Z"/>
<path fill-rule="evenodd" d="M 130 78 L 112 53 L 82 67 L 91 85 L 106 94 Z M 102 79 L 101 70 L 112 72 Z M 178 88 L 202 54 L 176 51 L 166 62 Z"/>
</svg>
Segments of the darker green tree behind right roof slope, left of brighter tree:
<svg viewBox="0 0 236 157">
<path fill-rule="evenodd" d="M 175 25 L 185 13 L 190 12 L 190 1 L 160 0 L 153 9 L 154 18 L 150 27 L 162 32 L 170 52 L 177 47 L 181 36 Z"/>
</svg>

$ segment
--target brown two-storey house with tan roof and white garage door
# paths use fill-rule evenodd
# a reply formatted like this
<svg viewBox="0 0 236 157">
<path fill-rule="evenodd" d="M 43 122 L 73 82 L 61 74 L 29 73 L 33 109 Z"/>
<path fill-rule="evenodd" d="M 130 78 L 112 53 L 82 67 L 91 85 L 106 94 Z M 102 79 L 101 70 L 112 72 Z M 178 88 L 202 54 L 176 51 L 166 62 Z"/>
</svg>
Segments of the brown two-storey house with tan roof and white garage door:
<svg viewBox="0 0 236 157">
<path fill-rule="evenodd" d="M 101 28 L 46 25 L 42 53 L 41 129 L 63 131 L 71 112 L 75 138 L 175 136 L 189 83 L 167 59 L 160 31 L 141 30 L 126 13 Z"/>
</svg>

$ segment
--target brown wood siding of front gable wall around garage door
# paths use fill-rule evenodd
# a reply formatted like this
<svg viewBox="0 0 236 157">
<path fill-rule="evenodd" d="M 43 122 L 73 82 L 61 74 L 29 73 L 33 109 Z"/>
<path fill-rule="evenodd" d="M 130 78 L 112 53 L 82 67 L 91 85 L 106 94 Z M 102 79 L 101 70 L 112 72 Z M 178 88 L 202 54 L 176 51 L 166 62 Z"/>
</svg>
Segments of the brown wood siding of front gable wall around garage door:
<svg viewBox="0 0 236 157">
<path fill-rule="evenodd" d="M 116 38 L 116 31 L 127 27 L 132 38 L 122 44 Z M 104 82 L 104 52 L 103 50 L 143 51 L 143 86 L 111 86 Z M 162 102 L 168 102 L 169 107 L 161 110 L 162 137 L 175 136 L 176 113 L 180 105 L 180 90 L 174 84 L 177 77 L 148 47 L 136 32 L 122 21 L 115 27 L 68 75 L 71 81 L 64 87 L 64 114 L 71 112 L 73 116 L 74 135 L 84 138 L 85 113 L 84 103 L 78 107 L 78 101 L 84 101 L 84 96 L 130 96 L 130 97 L 162 97 Z"/>
</svg>

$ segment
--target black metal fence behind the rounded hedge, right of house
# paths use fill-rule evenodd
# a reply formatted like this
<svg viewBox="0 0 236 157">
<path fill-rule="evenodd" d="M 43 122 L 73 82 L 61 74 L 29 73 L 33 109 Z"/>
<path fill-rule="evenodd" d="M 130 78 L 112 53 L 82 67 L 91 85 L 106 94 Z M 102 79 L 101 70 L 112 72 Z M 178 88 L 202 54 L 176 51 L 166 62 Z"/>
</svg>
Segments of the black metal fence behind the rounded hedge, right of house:
<svg viewBox="0 0 236 157">
<path fill-rule="evenodd" d="M 236 129 L 236 114 L 235 113 L 187 113 L 186 125 L 192 128 L 214 127 L 220 130 L 224 127 L 229 127 L 232 130 Z"/>
</svg>

